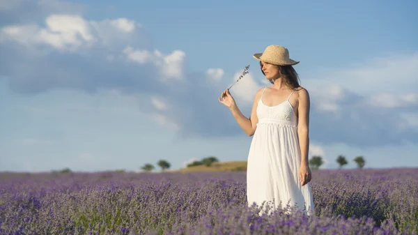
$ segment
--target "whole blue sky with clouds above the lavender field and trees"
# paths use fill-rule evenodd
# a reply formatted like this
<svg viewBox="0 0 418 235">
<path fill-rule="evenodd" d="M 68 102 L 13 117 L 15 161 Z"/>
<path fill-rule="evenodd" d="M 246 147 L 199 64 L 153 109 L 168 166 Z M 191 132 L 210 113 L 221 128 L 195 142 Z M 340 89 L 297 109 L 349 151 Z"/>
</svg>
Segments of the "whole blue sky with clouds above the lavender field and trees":
<svg viewBox="0 0 418 235">
<path fill-rule="evenodd" d="M 310 155 L 418 167 L 416 1 L 0 1 L 0 171 L 246 160 L 252 54 L 282 45 L 311 96 Z"/>
</svg>

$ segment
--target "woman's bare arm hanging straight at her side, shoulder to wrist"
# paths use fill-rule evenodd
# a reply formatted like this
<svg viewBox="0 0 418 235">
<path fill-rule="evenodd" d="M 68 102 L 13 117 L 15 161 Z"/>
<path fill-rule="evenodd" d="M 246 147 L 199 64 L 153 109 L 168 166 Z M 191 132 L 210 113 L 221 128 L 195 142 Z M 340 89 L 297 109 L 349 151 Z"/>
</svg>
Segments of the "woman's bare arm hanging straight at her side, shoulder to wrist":
<svg viewBox="0 0 418 235">
<path fill-rule="evenodd" d="M 297 135 L 299 137 L 300 152 L 302 154 L 301 165 L 308 166 L 309 153 L 309 109 L 310 109 L 309 93 L 302 88 L 299 91 L 299 105 L 297 112 L 299 113 Z"/>
</svg>

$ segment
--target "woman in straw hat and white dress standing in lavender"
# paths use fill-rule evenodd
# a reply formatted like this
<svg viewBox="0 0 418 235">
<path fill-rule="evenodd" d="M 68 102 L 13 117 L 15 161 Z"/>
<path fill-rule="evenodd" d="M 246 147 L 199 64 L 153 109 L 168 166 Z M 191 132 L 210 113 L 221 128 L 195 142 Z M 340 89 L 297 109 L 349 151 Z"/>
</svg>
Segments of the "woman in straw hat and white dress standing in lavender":
<svg viewBox="0 0 418 235">
<path fill-rule="evenodd" d="M 270 45 L 253 55 L 272 86 L 256 93 L 251 117 L 238 109 L 226 89 L 219 102 L 229 107 L 247 135 L 253 136 L 247 163 L 249 206 L 297 206 L 314 211 L 309 169 L 309 93 L 299 85 L 286 47 Z M 261 211 L 263 213 L 263 211 Z"/>
</svg>

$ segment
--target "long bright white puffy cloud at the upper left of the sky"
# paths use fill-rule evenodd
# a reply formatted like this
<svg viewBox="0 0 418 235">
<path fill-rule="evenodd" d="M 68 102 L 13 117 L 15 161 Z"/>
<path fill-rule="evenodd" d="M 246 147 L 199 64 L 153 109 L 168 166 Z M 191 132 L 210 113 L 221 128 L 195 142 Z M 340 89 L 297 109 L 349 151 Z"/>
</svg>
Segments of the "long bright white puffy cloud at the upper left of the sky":
<svg viewBox="0 0 418 235">
<path fill-rule="evenodd" d="M 111 47 L 127 40 L 141 24 L 126 18 L 89 21 L 80 15 L 52 14 L 45 18 L 45 27 L 37 24 L 4 26 L 0 42 L 13 40 L 26 47 L 49 45 L 56 50 L 77 50 L 97 43 Z M 176 59 L 176 58 L 175 58 Z"/>
</svg>

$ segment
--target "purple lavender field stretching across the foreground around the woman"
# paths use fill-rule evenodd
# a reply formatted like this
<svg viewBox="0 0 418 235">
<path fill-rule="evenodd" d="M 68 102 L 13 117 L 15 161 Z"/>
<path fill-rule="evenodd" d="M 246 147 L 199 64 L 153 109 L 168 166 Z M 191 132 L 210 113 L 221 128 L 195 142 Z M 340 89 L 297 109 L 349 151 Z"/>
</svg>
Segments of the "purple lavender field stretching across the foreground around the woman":
<svg viewBox="0 0 418 235">
<path fill-rule="evenodd" d="M 247 209 L 245 172 L 0 174 L 0 234 L 418 234 L 418 169 L 314 171 L 315 215 Z"/>
</svg>

